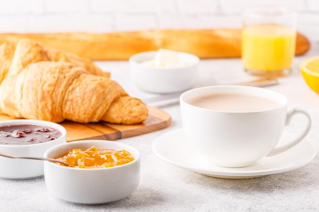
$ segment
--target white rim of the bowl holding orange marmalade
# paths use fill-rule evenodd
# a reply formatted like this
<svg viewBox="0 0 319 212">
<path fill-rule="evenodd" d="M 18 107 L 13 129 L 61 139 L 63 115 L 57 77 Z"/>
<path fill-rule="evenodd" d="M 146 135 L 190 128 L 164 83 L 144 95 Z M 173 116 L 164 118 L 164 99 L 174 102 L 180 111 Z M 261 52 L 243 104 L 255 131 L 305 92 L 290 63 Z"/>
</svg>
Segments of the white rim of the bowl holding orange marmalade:
<svg viewBox="0 0 319 212">
<path fill-rule="evenodd" d="M 75 167 L 61 166 L 61 165 L 58 165 L 56 163 L 52 163 L 52 162 L 49 162 L 49 161 L 45 161 L 44 163 L 50 163 L 51 165 L 57 166 L 59 168 L 76 170 L 76 171 L 93 171 L 93 170 L 111 170 L 111 169 L 122 168 L 122 167 L 125 167 L 125 166 L 132 165 L 134 163 L 137 163 L 139 161 L 139 159 L 141 158 L 141 153 L 140 153 L 140 151 L 137 148 L 132 147 L 132 146 L 127 145 L 127 144 L 124 144 L 124 143 L 120 143 L 118 141 L 108 141 L 108 140 L 82 140 L 82 141 L 72 141 L 72 142 L 62 143 L 62 144 L 59 144 L 59 145 L 56 145 L 56 146 L 52 146 L 51 148 L 47 149 L 45 151 L 43 157 L 46 158 L 49 153 L 51 153 L 52 151 L 56 150 L 57 148 L 59 148 L 61 146 L 68 146 L 68 145 L 74 144 L 73 142 L 76 142 L 78 144 L 91 143 L 92 142 L 92 146 L 94 145 L 93 143 L 96 143 L 96 142 L 98 142 L 98 143 L 114 143 L 114 142 L 117 142 L 117 144 L 120 144 L 120 146 L 122 146 L 123 149 L 125 149 L 125 147 L 127 147 L 127 148 L 130 148 L 130 149 L 134 150 L 137 153 L 137 157 L 134 158 L 134 161 L 131 161 L 129 163 L 126 163 L 126 164 L 123 164 L 123 165 L 119 165 L 119 166 L 107 167 L 107 168 L 75 168 Z"/>
</svg>

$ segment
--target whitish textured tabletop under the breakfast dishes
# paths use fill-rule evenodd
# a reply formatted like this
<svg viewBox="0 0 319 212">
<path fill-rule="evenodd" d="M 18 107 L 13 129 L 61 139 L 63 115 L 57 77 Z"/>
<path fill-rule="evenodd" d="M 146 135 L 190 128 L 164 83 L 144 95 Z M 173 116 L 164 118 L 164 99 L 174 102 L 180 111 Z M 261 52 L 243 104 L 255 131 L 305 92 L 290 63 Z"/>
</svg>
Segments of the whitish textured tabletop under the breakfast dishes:
<svg viewBox="0 0 319 212">
<path fill-rule="evenodd" d="M 319 95 L 307 87 L 298 70 L 300 62 L 310 55 L 319 55 L 319 48 L 313 47 L 307 55 L 297 57 L 294 74 L 268 89 L 285 95 L 290 107 L 299 106 L 310 112 L 313 126 L 305 140 L 318 152 Z M 127 62 L 98 62 L 97 65 L 111 70 L 113 79 L 131 96 L 153 96 L 131 84 Z M 197 86 L 251 79 L 243 72 L 240 59 L 203 60 L 198 76 Z M 172 116 L 169 128 L 119 141 L 135 146 L 142 153 L 140 186 L 131 196 L 108 205 L 76 205 L 52 196 L 43 177 L 0 179 L 0 211 L 319 211 L 318 156 L 300 169 L 254 179 L 219 179 L 183 170 L 152 154 L 151 144 L 157 136 L 182 127 L 178 105 L 162 109 Z M 296 118 L 289 130 L 298 131 L 303 125 L 303 120 L 299 122 Z"/>
</svg>

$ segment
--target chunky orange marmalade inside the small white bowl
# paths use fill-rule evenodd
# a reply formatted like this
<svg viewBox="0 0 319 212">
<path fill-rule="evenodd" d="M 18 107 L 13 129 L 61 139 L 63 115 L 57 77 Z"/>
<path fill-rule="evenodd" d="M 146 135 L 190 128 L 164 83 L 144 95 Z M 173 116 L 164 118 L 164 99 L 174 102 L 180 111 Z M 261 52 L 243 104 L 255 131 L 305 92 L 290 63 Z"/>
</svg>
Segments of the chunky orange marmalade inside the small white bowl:
<svg viewBox="0 0 319 212">
<path fill-rule="evenodd" d="M 77 168 L 108 168 L 134 161 L 130 153 L 124 149 L 116 151 L 114 149 L 98 149 L 96 146 L 87 150 L 72 149 L 67 155 L 56 159 L 69 164 L 70 167 Z M 64 166 L 60 163 L 57 164 Z"/>
</svg>

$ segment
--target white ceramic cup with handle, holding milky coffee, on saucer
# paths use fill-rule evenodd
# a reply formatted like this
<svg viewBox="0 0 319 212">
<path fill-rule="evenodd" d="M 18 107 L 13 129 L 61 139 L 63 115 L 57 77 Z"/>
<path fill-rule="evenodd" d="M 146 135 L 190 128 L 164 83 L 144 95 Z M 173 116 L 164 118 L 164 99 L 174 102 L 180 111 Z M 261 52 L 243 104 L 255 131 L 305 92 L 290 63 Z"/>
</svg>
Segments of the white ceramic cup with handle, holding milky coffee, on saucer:
<svg viewBox="0 0 319 212">
<path fill-rule="evenodd" d="M 190 98 L 233 93 L 265 97 L 278 103 L 275 109 L 256 112 L 224 112 L 188 104 Z M 243 167 L 254 164 L 265 156 L 285 152 L 299 143 L 311 126 L 309 114 L 301 109 L 287 111 L 287 99 L 271 90 L 239 85 L 208 86 L 188 90 L 180 96 L 183 130 L 197 154 L 211 164 Z M 296 114 L 306 116 L 305 130 L 290 143 L 275 147 L 284 127 Z"/>
</svg>

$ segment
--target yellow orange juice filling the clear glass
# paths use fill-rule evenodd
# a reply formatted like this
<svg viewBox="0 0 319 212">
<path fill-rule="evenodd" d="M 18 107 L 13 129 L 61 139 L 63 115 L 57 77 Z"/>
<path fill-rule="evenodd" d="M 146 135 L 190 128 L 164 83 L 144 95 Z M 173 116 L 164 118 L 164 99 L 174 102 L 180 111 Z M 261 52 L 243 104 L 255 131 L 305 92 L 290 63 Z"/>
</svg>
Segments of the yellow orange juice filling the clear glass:
<svg viewBox="0 0 319 212">
<path fill-rule="evenodd" d="M 244 68 L 280 72 L 290 69 L 295 54 L 296 32 L 276 24 L 245 26 L 242 32 Z"/>
</svg>

